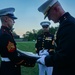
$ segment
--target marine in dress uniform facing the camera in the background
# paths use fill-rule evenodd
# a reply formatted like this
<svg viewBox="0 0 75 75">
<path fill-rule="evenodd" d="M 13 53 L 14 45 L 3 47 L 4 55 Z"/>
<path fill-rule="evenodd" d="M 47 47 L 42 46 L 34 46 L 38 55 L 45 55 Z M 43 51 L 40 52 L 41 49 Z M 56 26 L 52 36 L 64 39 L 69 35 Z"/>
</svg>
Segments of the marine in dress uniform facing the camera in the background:
<svg viewBox="0 0 75 75">
<path fill-rule="evenodd" d="M 40 25 L 43 28 L 43 33 L 38 35 L 37 42 L 35 44 L 36 53 L 39 56 L 40 53 L 47 51 L 48 55 L 54 51 L 54 35 L 49 32 L 50 22 L 44 21 L 41 22 Z M 44 65 L 39 64 L 39 75 L 52 75 L 53 67 L 46 67 Z"/>
</svg>

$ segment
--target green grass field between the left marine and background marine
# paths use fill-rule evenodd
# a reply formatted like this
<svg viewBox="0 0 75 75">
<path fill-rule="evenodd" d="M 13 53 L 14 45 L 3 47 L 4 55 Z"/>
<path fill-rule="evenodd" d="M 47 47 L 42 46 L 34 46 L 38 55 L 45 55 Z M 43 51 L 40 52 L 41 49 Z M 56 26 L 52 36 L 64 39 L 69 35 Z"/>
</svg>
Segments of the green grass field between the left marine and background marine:
<svg viewBox="0 0 75 75">
<path fill-rule="evenodd" d="M 35 53 L 35 42 L 17 42 L 17 47 L 23 51 Z M 35 67 L 21 67 L 22 75 L 38 75 L 38 65 Z"/>
</svg>

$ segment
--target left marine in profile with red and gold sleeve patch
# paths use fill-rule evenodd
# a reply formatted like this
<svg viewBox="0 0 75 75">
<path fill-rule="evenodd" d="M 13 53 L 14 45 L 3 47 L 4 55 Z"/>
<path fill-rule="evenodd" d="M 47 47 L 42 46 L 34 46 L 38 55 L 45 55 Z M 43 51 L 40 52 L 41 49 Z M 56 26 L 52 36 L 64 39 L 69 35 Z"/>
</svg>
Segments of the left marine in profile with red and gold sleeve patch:
<svg viewBox="0 0 75 75">
<path fill-rule="evenodd" d="M 0 10 L 1 29 L 0 29 L 0 55 L 1 55 L 1 74 L 0 75 L 21 75 L 21 65 L 30 66 L 28 57 L 23 58 L 17 52 L 16 42 L 12 35 L 12 27 L 17 17 L 14 16 L 15 9 L 5 8 Z M 30 61 L 29 61 L 30 60 Z M 33 64 L 33 63 L 32 63 Z"/>
</svg>

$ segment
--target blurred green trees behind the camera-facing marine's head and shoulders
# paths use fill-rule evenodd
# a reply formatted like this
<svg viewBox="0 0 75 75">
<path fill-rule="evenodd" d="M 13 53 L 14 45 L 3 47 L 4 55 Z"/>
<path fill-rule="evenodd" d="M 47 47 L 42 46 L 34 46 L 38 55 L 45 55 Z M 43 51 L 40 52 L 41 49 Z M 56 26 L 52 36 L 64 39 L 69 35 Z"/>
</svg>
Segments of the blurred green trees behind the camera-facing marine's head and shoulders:
<svg viewBox="0 0 75 75">
<path fill-rule="evenodd" d="M 57 31 L 58 27 L 51 27 L 49 29 L 51 34 L 55 34 L 55 32 Z M 35 30 L 33 29 L 32 32 L 27 31 L 26 34 L 23 34 L 23 40 L 27 40 L 27 41 L 32 41 L 32 40 L 36 40 L 37 35 L 42 33 L 42 29 L 39 30 Z"/>
</svg>

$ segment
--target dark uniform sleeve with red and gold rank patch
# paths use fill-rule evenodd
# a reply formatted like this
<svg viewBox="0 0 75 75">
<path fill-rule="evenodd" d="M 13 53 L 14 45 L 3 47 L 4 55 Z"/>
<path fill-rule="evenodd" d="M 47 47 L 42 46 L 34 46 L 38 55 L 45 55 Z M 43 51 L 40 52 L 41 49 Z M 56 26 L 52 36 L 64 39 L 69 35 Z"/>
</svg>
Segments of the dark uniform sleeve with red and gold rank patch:
<svg viewBox="0 0 75 75">
<path fill-rule="evenodd" d="M 2 57 L 8 57 L 13 63 L 22 63 L 22 58 L 18 57 L 16 43 L 13 38 L 7 34 L 2 36 Z"/>
</svg>

